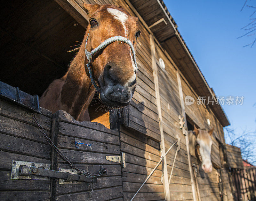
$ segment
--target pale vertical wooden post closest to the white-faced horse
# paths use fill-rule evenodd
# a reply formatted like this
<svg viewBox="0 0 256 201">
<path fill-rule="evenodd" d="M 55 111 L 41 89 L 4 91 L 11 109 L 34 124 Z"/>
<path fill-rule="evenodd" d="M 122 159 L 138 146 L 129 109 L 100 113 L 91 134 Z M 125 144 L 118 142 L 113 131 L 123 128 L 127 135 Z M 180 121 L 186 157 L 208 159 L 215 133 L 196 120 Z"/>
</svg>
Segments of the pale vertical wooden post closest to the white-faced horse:
<svg viewBox="0 0 256 201">
<path fill-rule="evenodd" d="M 193 200 L 196 201 L 196 184 L 194 180 L 194 173 L 191 165 L 191 159 L 190 159 L 190 153 L 189 153 L 189 139 L 188 139 L 188 125 L 187 125 L 187 118 L 186 118 L 186 112 L 185 112 L 185 104 L 183 100 L 183 91 L 181 86 L 181 80 L 180 80 L 180 72 L 177 70 L 177 81 L 178 81 L 178 89 L 179 89 L 179 95 L 180 95 L 180 106 L 181 106 L 181 113 L 184 117 L 185 124 L 182 128 L 182 133 L 185 135 L 185 141 L 186 141 L 186 148 L 187 148 L 187 154 L 188 154 L 188 168 L 189 168 L 189 174 L 190 174 L 190 182 L 191 182 L 191 188 L 192 188 L 192 195 Z"/>
</svg>

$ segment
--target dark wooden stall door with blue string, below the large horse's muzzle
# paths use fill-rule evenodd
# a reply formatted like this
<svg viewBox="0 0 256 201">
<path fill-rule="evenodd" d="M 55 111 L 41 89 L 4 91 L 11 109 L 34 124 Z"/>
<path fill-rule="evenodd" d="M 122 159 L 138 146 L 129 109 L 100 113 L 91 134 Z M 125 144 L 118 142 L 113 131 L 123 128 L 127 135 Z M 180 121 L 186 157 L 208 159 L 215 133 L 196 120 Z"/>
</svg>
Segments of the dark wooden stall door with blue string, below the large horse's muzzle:
<svg viewBox="0 0 256 201">
<path fill-rule="evenodd" d="M 55 128 L 52 131 L 55 146 L 79 169 L 96 174 L 107 168 L 107 175 L 98 177 L 98 182 L 93 184 L 93 191 L 91 183 L 60 184 L 58 179 L 54 179 L 53 200 L 123 200 L 121 164 L 106 160 L 107 155 L 120 156 L 118 132 L 100 123 L 76 121 L 65 111 L 53 114 L 52 127 Z M 78 148 L 75 146 L 76 138 L 84 143 Z M 56 152 L 53 158 L 54 170 L 71 169 Z"/>
</svg>

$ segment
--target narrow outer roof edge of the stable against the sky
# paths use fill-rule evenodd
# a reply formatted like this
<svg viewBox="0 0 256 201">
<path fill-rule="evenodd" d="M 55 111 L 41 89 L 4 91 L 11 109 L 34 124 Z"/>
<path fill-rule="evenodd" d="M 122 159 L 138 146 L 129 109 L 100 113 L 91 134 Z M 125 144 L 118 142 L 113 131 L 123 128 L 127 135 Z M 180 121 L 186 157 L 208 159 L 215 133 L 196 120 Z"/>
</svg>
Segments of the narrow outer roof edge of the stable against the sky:
<svg viewBox="0 0 256 201">
<path fill-rule="evenodd" d="M 189 60 L 192 62 L 193 66 L 196 68 L 196 71 L 199 74 L 199 77 L 201 77 L 202 81 L 204 82 L 204 90 L 205 90 L 205 94 L 209 94 L 212 97 L 216 97 L 215 93 L 212 93 L 212 89 L 210 88 L 209 84 L 207 83 L 203 73 L 201 72 L 200 68 L 198 67 L 195 58 L 193 57 L 192 53 L 190 52 L 187 44 L 185 43 L 184 39 L 182 38 L 180 32 L 178 31 L 177 27 L 178 25 L 176 24 L 176 22 L 174 21 L 174 19 L 172 18 L 170 12 L 168 11 L 166 5 L 164 4 L 163 0 L 156 0 L 157 3 L 159 4 L 159 6 L 161 7 L 163 14 L 165 17 L 168 18 L 169 23 L 172 25 L 172 29 L 175 32 L 175 36 L 178 39 L 178 41 L 180 42 L 181 46 L 183 47 L 185 53 L 188 55 Z M 150 8 L 149 8 L 150 9 Z M 167 51 L 168 52 L 168 51 Z M 211 105 L 212 106 L 212 105 Z M 221 107 L 221 105 L 219 104 L 214 104 L 212 107 L 210 106 L 210 108 L 215 108 L 217 110 L 213 110 L 215 111 L 215 115 L 217 116 L 217 118 L 219 119 L 221 125 L 223 127 L 225 126 L 229 126 L 229 120 L 228 117 L 225 113 L 225 111 L 223 110 L 223 108 Z"/>
</svg>

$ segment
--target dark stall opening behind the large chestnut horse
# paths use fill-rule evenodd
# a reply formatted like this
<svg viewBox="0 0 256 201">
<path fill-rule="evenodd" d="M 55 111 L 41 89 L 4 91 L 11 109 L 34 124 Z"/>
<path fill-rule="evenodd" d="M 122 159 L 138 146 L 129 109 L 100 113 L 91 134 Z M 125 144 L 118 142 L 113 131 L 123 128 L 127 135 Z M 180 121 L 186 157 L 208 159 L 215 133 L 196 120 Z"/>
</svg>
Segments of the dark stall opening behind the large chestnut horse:
<svg viewBox="0 0 256 201">
<path fill-rule="evenodd" d="M 54 0 L 5 1 L 0 10 L 0 81 L 41 97 L 66 74 L 85 28 Z M 88 108 L 90 119 L 109 128 L 109 112 L 98 95 Z"/>
</svg>

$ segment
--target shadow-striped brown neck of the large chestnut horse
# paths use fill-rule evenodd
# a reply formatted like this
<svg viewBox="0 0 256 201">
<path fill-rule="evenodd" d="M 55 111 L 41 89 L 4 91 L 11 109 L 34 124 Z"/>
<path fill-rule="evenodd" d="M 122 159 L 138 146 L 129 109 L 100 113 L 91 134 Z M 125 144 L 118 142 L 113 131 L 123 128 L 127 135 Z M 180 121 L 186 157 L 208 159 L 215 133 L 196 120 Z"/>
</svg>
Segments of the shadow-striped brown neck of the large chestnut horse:
<svg viewBox="0 0 256 201">
<path fill-rule="evenodd" d="M 66 111 L 75 119 L 79 118 L 81 111 L 88 108 L 95 92 L 85 72 L 85 62 L 87 63 L 87 59 L 84 58 L 85 40 L 86 38 L 71 62 L 68 72 L 63 76 L 65 82 L 61 90 L 61 104 L 65 105 Z"/>
</svg>

